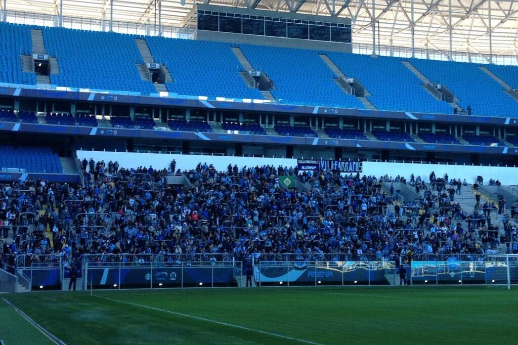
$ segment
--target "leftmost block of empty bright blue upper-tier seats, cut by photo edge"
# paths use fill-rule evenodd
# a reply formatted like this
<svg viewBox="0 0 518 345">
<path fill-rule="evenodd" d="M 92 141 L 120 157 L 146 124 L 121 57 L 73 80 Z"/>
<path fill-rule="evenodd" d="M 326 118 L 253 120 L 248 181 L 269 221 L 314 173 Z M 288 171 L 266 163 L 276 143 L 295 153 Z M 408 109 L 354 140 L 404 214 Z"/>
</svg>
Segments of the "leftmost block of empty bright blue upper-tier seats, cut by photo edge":
<svg viewBox="0 0 518 345">
<path fill-rule="evenodd" d="M 36 74 L 22 72 L 20 55 L 32 54 L 29 26 L 0 23 L 0 82 L 36 84 Z"/>
</svg>

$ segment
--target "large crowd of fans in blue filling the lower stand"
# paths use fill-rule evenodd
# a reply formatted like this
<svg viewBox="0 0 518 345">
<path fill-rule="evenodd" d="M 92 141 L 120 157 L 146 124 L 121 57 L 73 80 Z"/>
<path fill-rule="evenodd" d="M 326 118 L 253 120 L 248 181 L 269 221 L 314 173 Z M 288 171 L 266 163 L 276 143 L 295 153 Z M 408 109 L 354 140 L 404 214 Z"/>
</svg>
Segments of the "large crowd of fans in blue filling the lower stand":
<svg viewBox="0 0 518 345">
<path fill-rule="evenodd" d="M 407 253 L 493 253 L 517 232 L 504 214 L 501 235 L 491 221 L 495 205 L 479 198 L 473 210 L 461 209 L 455 195 L 466 181 L 434 173 L 427 184 L 414 176 L 406 181 L 282 166 L 218 171 L 200 163 L 181 171 L 176 162 L 155 170 L 93 160 L 80 166 L 84 185 L 26 180 L 1 186 L 4 261 L 20 253 L 34 260 L 38 254 L 70 260 L 84 253 L 159 254 L 168 261 L 204 253 L 239 260 L 285 253 L 382 260 Z M 185 183 L 168 184 L 172 174 Z M 297 176 L 299 188 L 283 187 L 283 176 Z M 403 203 L 384 181 L 408 183 L 420 198 Z"/>
</svg>

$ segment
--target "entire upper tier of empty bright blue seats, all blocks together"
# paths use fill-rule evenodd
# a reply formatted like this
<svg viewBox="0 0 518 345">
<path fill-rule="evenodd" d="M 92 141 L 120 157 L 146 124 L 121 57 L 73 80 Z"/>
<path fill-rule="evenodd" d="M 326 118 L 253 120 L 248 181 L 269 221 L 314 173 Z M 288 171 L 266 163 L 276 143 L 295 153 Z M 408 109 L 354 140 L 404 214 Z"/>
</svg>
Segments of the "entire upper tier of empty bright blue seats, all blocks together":
<svg viewBox="0 0 518 345">
<path fill-rule="evenodd" d="M 135 64 L 142 64 L 135 35 L 88 32 L 55 27 L 42 30 L 46 51 L 56 56 L 60 74 L 52 84 L 98 90 L 156 93 L 150 81 L 142 81 Z M 32 53 L 31 26 L 0 23 L 0 82 L 36 84 L 34 73 L 22 72 L 20 55 Z M 171 93 L 189 96 L 262 99 L 239 75 L 243 67 L 231 44 L 212 41 L 145 37 L 157 62 L 167 65 L 174 82 Z M 301 104 L 363 109 L 358 98 L 347 95 L 335 83 L 336 75 L 319 52 L 292 48 L 239 45 L 252 66 L 264 71 L 281 104 Z M 452 113 L 436 100 L 396 57 L 325 52 L 347 77 L 357 79 L 380 110 Z M 293 57 L 296 56 L 296 59 Z M 445 85 L 459 104 L 481 116 L 517 117 L 518 102 L 487 76 L 477 64 L 404 59 L 431 82 Z M 518 88 L 518 67 L 486 65 L 497 76 Z"/>
</svg>

